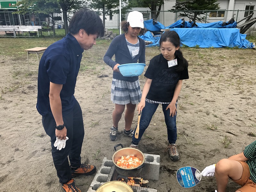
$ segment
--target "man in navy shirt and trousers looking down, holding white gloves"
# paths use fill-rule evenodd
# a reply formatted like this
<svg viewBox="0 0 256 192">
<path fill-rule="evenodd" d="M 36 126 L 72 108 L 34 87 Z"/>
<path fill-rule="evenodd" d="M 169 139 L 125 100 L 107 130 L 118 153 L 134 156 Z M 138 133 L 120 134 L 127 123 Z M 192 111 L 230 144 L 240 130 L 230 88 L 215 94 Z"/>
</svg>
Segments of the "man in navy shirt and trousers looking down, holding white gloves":
<svg viewBox="0 0 256 192">
<path fill-rule="evenodd" d="M 94 165 L 81 164 L 84 139 L 82 110 L 74 97 L 76 77 L 82 53 L 104 35 L 100 17 L 81 9 L 69 22 L 68 35 L 50 45 L 44 52 L 38 69 L 36 108 L 51 137 L 52 158 L 63 191 L 81 191 L 74 177 L 96 172 Z M 70 165 L 68 163 L 68 158 Z"/>
</svg>

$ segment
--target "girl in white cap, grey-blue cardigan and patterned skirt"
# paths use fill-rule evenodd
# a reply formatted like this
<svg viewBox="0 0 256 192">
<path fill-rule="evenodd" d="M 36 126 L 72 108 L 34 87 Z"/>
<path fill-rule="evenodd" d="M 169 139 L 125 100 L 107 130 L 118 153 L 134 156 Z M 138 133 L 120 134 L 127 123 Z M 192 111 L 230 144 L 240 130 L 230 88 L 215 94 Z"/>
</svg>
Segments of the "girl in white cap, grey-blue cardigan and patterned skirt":
<svg viewBox="0 0 256 192">
<path fill-rule="evenodd" d="M 113 69 L 111 85 L 111 100 L 115 103 L 112 113 L 113 125 L 109 138 L 115 141 L 117 138 L 118 123 L 124 112 L 124 135 L 132 137 L 131 129 L 136 104 L 140 102 L 141 91 L 138 76 L 123 76 L 119 65 L 126 63 L 145 63 L 145 41 L 138 35 L 144 35 L 147 31 L 143 24 L 143 15 L 138 11 L 130 12 L 127 21 L 121 22 L 124 34 L 116 36 L 109 45 L 103 60 Z M 112 57 L 115 55 L 115 61 Z"/>
</svg>

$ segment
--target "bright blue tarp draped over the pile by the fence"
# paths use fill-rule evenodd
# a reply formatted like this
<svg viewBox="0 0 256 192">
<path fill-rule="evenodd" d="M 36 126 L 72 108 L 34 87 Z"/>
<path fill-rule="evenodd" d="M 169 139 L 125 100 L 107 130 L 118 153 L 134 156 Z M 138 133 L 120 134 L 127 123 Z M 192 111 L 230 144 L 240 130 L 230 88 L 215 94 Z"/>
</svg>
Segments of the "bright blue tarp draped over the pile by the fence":
<svg viewBox="0 0 256 192">
<path fill-rule="evenodd" d="M 190 23 L 187 21 L 178 20 L 172 25 L 164 27 L 164 25 L 159 22 L 153 25 L 153 20 L 148 20 L 144 21 L 144 25 L 149 31 L 140 37 L 153 43 L 146 46 L 159 46 L 160 36 L 153 36 L 150 31 L 160 32 L 161 29 L 169 28 L 176 31 L 180 36 L 181 43 L 189 47 L 199 45 L 201 48 L 253 48 L 253 44 L 245 39 L 246 34 L 240 34 L 240 30 L 236 28 L 236 22 L 226 26 L 222 26 L 222 21 L 212 23 L 196 23 L 196 27 L 192 27 L 192 24 L 193 22 Z"/>
</svg>

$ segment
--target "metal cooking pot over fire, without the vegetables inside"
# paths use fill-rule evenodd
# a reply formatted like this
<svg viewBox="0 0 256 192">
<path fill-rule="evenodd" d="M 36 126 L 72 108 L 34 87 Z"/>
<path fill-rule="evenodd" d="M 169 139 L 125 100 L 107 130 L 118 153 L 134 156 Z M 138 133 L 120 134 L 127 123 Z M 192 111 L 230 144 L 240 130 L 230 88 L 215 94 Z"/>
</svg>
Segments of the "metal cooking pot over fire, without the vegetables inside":
<svg viewBox="0 0 256 192">
<path fill-rule="evenodd" d="M 115 164 L 116 172 L 120 175 L 126 176 L 126 177 L 135 177 L 142 171 L 142 167 L 145 166 L 145 156 L 144 154 L 136 148 L 123 148 L 123 145 L 120 143 L 116 146 L 114 146 L 114 149 L 116 150 L 117 147 L 121 146 L 122 148 L 116 151 L 112 157 L 113 163 Z M 120 159 L 122 156 L 128 156 L 128 155 L 134 155 L 135 157 L 138 157 L 141 160 L 141 164 L 138 167 L 135 168 L 123 168 L 116 164 L 116 161 Z"/>
</svg>

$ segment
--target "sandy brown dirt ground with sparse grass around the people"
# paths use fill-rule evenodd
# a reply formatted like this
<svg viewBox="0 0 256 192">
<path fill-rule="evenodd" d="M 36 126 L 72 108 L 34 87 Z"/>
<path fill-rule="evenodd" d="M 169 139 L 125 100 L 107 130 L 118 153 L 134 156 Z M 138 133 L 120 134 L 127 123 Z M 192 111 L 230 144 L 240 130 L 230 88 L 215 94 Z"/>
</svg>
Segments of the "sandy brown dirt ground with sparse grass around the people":
<svg viewBox="0 0 256 192">
<path fill-rule="evenodd" d="M 12 43 L 13 39 L 0 41 Z M 109 140 L 114 109 L 110 101 L 112 69 L 102 59 L 109 42 L 102 42 L 83 53 L 75 92 L 84 116 L 82 162 L 98 168 L 104 157 L 112 159 L 116 144 L 128 147 L 131 142 L 122 133 L 124 117 L 118 125 L 117 140 Z M 28 74 L 25 52 L 8 55 L 1 49 L 0 191 L 61 191 L 52 162 L 50 138 L 36 110 L 37 72 Z M 160 155 L 159 181 L 149 181 L 149 188 L 159 192 L 212 192 L 217 189 L 214 178 L 203 177 L 197 186 L 184 189 L 177 182 L 176 171 L 183 166 L 202 171 L 205 166 L 242 152 L 256 139 L 255 50 L 185 47 L 182 51 L 189 62 L 189 79 L 183 81 L 177 106 L 176 143 L 180 160 L 172 162 L 165 151 L 167 131 L 161 107 L 153 116 L 139 149 Z M 146 64 L 159 53 L 157 48 L 147 47 Z M 30 58 L 31 69 L 36 69 L 35 55 Z M 141 89 L 145 80 L 140 76 Z M 135 113 L 133 129 L 137 120 Z M 94 175 L 77 177 L 77 186 L 86 192 Z M 227 191 L 238 187 L 230 181 Z"/>
</svg>

